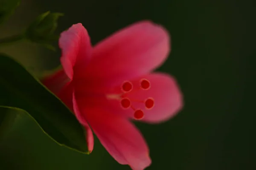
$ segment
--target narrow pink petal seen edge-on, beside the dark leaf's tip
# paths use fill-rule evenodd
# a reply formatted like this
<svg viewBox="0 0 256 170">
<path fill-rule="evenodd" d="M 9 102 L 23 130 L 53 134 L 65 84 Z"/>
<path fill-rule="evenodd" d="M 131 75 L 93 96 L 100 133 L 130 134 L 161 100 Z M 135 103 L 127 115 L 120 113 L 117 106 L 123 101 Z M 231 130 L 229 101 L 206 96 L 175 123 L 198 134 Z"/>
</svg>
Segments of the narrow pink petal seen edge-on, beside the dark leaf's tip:
<svg viewBox="0 0 256 170">
<path fill-rule="evenodd" d="M 73 110 L 76 115 L 76 118 L 79 120 L 81 125 L 83 125 L 86 130 L 85 135 L 87 139 L 87 147 L 89 152 L 91 153 L 93 151 L 93 144 L 94 144 L 93 132 L 90 129 L 90 126 L 88 125 L 87 121 L 84 119 L 84 116 L 81 115 L 79 106 L 77 105 L 77 102 L 76 102 L 76 97 L 74 92 L 73 92 Z"/>
</svg>

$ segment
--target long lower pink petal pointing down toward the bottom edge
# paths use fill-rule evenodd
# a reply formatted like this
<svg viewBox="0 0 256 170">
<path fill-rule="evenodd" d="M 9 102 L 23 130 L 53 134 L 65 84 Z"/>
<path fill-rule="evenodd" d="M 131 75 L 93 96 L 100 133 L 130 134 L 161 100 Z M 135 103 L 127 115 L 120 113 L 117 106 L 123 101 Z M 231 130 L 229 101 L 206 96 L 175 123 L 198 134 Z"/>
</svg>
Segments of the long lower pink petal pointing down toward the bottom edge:
<svg viewBox="0 0 256 170">
<path fill-rule="evenodd" d="M 134 170 L 148 167 L 151 159 L 140 131 L 123 116 L 91 106 L 88 102 L 87 99 L 78 99 L 81 113 L 84 113 L 84 118 L 111 156 L 120 164 L 130 165 Z M 85 103 L 88 105 L 84 105 Z"/>
</svg>

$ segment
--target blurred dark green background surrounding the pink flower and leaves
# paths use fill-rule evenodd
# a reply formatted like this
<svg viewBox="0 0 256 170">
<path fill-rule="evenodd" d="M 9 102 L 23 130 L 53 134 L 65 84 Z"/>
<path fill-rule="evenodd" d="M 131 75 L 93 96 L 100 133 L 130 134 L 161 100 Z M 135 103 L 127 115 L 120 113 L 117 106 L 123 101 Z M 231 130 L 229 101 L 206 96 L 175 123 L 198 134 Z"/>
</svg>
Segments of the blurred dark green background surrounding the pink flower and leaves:
<svg viewBox="0 0 256 170">
<path fill-rule="evenodd" d="M 165 26 L 172 52 L 159 69 L 176 77 L 185 107 L 160 125 L 136 123 L 150 147 L 147 170 L 255 170 L 255 3 L 238 0 L 22 0 L 0 37 L 17 34 L 45 11 L 63 12 L 95 44 L 138 20 Z M 254 49 L 253 49 L 254 48 Z M 18 42 L 0 47 L 32 73 L 59 65 L 60 51 Z M 96 139 L 91 155 L 61 147 L 23 117 L 0 142 L 1 170 L 129 170 Z"/>
</svg>

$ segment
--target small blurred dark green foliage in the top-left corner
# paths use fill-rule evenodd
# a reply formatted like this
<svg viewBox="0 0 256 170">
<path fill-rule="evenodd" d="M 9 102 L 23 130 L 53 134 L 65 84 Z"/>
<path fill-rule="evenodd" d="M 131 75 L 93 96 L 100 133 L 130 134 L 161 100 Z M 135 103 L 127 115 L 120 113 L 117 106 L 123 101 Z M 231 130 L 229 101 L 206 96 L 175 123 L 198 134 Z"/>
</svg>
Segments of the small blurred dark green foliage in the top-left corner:
<svg viewBox="0 0 256 170">
<path fill-rule="evenodd" d="M 0 23 L 3 23 L 15 8 L 20 5 L 20 0 L 0 0 Z"/>
</svg>

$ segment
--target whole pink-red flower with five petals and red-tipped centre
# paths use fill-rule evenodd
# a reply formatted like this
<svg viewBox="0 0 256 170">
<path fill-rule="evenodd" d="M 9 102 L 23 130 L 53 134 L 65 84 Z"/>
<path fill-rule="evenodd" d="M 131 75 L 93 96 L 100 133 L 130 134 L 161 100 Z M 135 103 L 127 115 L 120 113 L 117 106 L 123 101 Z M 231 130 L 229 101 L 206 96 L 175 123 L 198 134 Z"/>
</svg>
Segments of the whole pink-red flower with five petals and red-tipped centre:
<svg viewBox="0 0 256 170">
<path fill-rule="evenodd" d="M 142 21 L 92 47 L 86 29 L 78 23 L 61 33 L 59 46 L 63 70 L 43 82 L 86 128 L 89 151 L 93 130 L 120 164 L 133 170 L 148 167 L 148 146 L 130 120 L 163 122 L 183 105 L 175 79 L 152 73 L 169 54 L 167 31 Z"/>
</svg>

